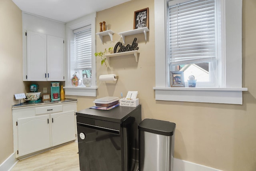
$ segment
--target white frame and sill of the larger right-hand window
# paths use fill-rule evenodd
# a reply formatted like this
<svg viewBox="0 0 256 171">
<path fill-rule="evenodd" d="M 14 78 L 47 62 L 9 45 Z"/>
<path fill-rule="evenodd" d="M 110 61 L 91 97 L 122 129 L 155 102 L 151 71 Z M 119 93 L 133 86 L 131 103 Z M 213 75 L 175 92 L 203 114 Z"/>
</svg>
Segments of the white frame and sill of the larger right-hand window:
<svg viewBox="0 0 256 171">
<path fill-rule="evenodd" d="M 242 91 L 248 90 L 242 87 L 242 0 L 219 0 L 217 5 L 223 14 L 218 19 L 225 22 L 221 29 L 222 42 L 218 42 L 222 47 L 218 52 L 222 56 L 222 64 L 218 66 L 221 67 L 220 86 L 170 87 L 165 44 L 167 0 L 154 1 L 156 85 L 153 89 L 156 100 L 242 104 Z"/>
</svg>

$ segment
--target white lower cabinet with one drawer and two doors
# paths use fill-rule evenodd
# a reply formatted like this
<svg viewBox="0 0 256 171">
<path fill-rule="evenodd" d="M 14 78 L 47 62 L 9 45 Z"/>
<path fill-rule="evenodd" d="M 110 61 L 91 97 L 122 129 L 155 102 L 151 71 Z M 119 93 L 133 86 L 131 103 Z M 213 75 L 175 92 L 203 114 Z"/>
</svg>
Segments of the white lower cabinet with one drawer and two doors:
<svg viewBox="0 0 256 171">
<path fill-rule="evenodd" d="M 76 102 L 12 108 L 16 158 L 75 140 L 75 112 Z"/>
</svg>

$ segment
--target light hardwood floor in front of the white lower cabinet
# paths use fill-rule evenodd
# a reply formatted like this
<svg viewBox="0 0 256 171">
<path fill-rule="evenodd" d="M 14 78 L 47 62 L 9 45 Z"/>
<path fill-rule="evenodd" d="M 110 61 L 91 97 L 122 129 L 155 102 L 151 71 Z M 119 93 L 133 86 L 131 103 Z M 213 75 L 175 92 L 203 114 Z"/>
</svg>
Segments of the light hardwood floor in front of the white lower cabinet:
<svg viewBox="0 0 256 171">
<path fill-rule="evenodd" d="M 79 171 L 77 142 L 18 161 L 11 171 Z"/>
</svg>

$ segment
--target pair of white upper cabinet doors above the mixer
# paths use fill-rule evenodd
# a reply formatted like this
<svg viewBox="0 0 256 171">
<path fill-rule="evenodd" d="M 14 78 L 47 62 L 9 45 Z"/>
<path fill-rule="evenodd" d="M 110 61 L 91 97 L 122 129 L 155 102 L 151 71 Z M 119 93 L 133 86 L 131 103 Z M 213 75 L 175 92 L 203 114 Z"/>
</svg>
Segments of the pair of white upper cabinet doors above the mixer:
<svg viewBox="0 0 256 171">
<path fill-rule="evenodd" d="M 27 31 L 25 81 L 64 81 L 63 38 Z"/>
</svg>

